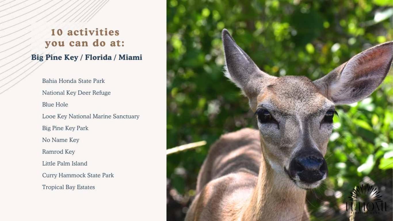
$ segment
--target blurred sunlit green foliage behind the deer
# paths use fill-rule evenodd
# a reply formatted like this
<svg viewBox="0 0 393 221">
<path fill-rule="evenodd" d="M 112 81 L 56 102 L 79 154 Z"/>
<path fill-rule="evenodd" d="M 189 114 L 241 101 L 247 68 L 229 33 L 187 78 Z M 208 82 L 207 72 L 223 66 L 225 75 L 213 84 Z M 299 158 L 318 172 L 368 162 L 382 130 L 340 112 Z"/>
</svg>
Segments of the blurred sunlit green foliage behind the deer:
<svg viewBox="0 0 393 221">
<path fill-rule="evenodd" d="M 220 34 L 227 28 L 255 63 L 274 76 L 318 79 L 370 46 L 391 41 L 392 1 L 167 2 L 167 148 L 208 144 L 167 157 L 167 177 L 182 195 L 195 193 L 209 146 L 221 134 L 256 127 L 248 100 L 223 74 Z M 393 77 L 367 99 L 338 106 L 326 154 L 329 177 L 308 195 L 312 213 L 322 201 L 338 211 L 365 176 L 391 180 Z M 326 195 L 326 188 L 341 197 Z M 337 195 L 337 194 L 336 194 Z"/>
</svg>

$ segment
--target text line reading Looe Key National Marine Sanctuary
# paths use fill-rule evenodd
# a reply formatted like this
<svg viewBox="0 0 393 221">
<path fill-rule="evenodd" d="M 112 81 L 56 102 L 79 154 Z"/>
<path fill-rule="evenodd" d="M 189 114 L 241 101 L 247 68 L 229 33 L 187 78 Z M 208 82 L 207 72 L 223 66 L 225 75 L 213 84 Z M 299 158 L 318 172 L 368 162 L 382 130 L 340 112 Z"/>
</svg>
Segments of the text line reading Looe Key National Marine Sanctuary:
<svg viewBox="0 0 393 221">
<path fill-rule="evenodd" d="M 140 115 L 130 114 L 42 114 L 43 119 L 135 119 Z"/>
</svg>

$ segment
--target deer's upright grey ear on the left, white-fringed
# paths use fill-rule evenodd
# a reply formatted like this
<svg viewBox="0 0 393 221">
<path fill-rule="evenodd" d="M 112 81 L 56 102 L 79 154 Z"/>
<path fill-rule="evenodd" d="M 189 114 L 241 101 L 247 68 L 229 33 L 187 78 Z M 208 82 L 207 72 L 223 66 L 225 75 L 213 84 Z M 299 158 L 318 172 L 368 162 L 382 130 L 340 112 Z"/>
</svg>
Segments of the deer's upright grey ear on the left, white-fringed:
<svg viewBox="0 0 393 221">
<path fill-rule="evenodd" d="M 228 30 L 222 30 L 222 44 L 224 45 L 226 73 L 237 87 L 241 88 L 243 93 L 252 98 L 259 92 L 260 80 L 263 77 L 271 77 L 259 70 L 252 59 L 244 52 L 233 40 Z"/>
</svg>

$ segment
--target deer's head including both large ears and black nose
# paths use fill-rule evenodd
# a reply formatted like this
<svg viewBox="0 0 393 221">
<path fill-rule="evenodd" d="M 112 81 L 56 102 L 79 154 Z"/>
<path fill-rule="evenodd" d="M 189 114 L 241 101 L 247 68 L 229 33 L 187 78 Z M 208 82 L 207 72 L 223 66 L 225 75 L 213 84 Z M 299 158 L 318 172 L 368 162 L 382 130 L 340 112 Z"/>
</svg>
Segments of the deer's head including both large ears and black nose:
<svg viewBox="0 0 393 221">
<path fill-rule="evenodd" d="M 266 74 L 226 29 L 222 42 L 226 76 L 241 88 L 255 112 L 264 159 L 274 173 L 299 188 L 317 187 L 327 176 L 324 156 L 335 105 L 359 101 L 382 83 L 392 62 L 392 42 L 355 55 L 316 81 Z"/>
</svg>

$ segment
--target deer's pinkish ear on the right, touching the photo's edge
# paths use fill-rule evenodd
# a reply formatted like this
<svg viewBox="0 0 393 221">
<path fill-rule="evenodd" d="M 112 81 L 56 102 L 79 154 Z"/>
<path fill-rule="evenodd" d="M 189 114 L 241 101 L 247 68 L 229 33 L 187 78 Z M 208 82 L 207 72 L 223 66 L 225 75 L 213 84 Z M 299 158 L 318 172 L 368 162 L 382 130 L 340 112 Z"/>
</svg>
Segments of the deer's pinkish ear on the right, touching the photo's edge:
<svg viewBox="0 0 393 221">
<path fill-rule="evenodd" d="M 350 104 L 369 96 L 385 79 L 393 58 L 393 42 L 361 52 L 314 81 L 335 104 Z"/>
</svg>

